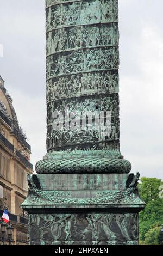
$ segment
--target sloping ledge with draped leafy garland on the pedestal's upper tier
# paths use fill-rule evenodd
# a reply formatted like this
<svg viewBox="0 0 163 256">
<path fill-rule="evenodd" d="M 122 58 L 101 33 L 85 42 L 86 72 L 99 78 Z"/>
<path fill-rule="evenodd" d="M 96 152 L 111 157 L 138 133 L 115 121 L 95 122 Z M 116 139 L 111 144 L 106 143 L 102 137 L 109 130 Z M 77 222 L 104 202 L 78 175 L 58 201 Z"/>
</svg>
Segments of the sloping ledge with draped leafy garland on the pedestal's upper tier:
<svg viewBox="0 0 163 256">
<path fill-rule="evenodd" d="M 65 205 L 94 205 L 94 204 L 140 204 L 137 188 L 131 187 L 121 191 L 96 191 L 96 197 L 73 198 L 71 191 L 42 191 L 30 188 L 24 204 L 65 204 Z"/>
</svg>

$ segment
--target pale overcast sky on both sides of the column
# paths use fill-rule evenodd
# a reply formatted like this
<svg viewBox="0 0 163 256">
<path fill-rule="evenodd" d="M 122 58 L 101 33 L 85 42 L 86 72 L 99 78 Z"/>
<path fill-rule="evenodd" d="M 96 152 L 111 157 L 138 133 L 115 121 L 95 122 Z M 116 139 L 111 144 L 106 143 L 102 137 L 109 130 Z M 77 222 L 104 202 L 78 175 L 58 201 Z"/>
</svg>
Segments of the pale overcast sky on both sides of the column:
<svg viewBox="0 0 163 256">
<path fill-rule="evenodd" d="M 121 153 L 163 179 L 163 1 L 119 0 Z M 45 1 L 0 0 L 0 75 L 32 145 L 46 154 Z"/>
</svg>

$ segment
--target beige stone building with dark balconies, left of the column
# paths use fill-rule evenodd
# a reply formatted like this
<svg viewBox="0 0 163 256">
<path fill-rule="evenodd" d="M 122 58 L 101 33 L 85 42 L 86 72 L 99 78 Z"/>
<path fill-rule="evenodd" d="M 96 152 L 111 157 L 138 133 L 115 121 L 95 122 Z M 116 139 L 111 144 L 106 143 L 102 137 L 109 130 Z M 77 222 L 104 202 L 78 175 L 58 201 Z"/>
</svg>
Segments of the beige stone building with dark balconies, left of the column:
<svg viewBox="0 0 163 256">
<path fill-rule="evenodd" d="M 28 244 L 28 220 L 20 204 L 27 196 L 27 173 L 33 173 L 30 154 L 31 147 L 0 76 L 0 217 L 7 209 L 14 226 L 14 245 Z"/>
</svg>

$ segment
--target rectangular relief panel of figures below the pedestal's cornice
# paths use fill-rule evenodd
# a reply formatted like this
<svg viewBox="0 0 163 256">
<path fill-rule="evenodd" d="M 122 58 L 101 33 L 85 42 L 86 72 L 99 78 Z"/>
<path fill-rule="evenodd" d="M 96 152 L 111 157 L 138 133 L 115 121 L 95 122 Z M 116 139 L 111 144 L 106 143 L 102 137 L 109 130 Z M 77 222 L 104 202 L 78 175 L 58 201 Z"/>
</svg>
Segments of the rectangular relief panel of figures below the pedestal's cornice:
<svg viewBox="0 0 163 256">
<path fill-rule="evenodd" d="M 134 245 L 138 239 L 138 214 L 35 214 L 30 216 L 30 220 L 30 234 L 34 230 L 42 233 L 45 245 L 53 241 L 55 245 L 57 242 L 77 245 L 79 241 L 92 241 L 92 245 L 108 245 L 114 241 L 115 245 L 122 242 Z M 29 239 L 33 241 L 34 237 Z"/>
</svg>

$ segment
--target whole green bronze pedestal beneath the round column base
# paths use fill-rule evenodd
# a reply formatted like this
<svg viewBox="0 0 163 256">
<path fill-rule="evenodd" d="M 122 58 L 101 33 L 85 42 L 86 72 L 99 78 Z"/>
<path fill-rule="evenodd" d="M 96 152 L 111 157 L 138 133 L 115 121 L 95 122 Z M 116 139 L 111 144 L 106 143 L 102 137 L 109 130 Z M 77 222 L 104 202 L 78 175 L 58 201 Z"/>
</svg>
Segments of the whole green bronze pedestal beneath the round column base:
<svg viewBox="0 0 163 256">
<path fill-rule="evenodd" d="M 28 177 L 30 245 L 138 245 L 144 202 L 134 174 Z"/>
</svg>

